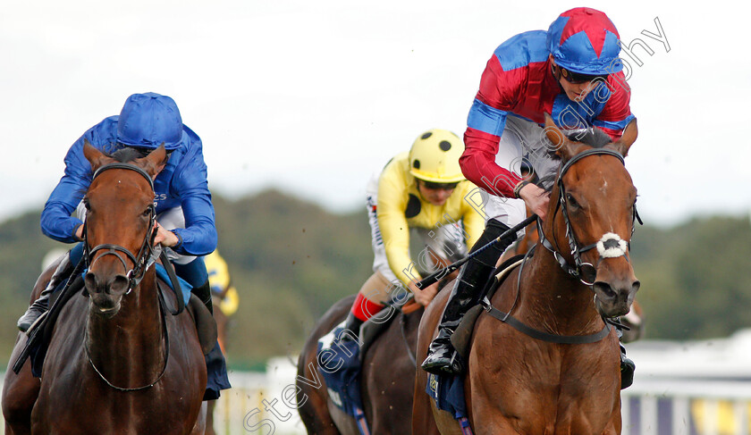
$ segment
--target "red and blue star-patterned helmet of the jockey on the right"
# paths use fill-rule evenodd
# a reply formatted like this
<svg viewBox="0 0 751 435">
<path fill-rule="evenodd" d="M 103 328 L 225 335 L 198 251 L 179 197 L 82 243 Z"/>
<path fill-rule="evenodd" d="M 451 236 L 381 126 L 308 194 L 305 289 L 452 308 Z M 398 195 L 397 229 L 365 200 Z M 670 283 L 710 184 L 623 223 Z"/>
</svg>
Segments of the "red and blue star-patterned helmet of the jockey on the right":
<svg viewBox="0 0 751 435">
<path fill-rule="evenodd" d="M 550 25 L 547 46 L 559 66 L 587 76 L 602 76 L 623 69 L 620 36 L 607 15 L 578 7 L 561 13 Z"/>
</svg>

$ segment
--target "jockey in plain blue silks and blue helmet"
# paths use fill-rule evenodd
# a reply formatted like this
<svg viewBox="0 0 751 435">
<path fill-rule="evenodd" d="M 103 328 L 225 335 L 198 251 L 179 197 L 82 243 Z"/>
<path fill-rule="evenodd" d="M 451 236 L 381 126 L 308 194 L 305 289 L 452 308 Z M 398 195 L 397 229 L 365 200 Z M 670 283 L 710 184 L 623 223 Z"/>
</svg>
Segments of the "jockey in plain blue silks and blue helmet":
<svg viewBox="0 0 751 435">
<path fill-rule="evenodd" d="M 71 146 L 65 155 L 65 174 L 47 199 L 41 216 L 42 232 L 63 243 L 83 239 L 85 213 L 80 204 L 93 176 L 91 165 L 83 155 L 85 140 L 108 155 L 126 146 L 148 155 L 165 144 L 169 160 L 154 180 L 158 224 L 155 243 L 167 249 L 177 275 L 188 281 L 191 292 L 213 311 L 202 258 L 214 251 L 217 243 L 207 167 L 201 139 L 182 123 L 173 99 L 155 93 L 133 94 L 122 106 L 119 116 L 105 118 Z M 78 213 L 72 215 L 74 212 Z M 50 295 L 71 275 L 82 255 L 83 244 L 79 243 L 64 256 L 42 295 L 19 319 L 20 330 L 28 330 L 48 309 Z M 204 399 L 213 399 L 219 397 L 219 390 L 230 388 L 218 344 L 207 356 L 207 369 Z"/>
</svg>

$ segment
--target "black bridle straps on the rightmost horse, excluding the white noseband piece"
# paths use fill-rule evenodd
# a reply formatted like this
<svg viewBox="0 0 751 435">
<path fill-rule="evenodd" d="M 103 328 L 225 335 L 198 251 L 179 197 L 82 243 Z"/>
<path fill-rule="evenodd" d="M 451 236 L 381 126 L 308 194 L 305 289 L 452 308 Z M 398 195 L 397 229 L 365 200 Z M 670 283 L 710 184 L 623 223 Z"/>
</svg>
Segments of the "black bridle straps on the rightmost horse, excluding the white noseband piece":
<svg viewBox="0 0 751 435">
<path fill-rule="evenodd" d="M 553 212 L 553 220 L 555 219 L 556 213 L 558 211 L 561 211 L 561 215 L 563 216 L 563 222 L 566 224 L 566 239 L 569 242 L 569 248 L 570 248 L 570 254 L 574 258 L 574 264 L 571 265 L 569 262 L 561 255 L 561 248 L 558 247 L 558 244 L 556 242 L 556 246 L 553 247 L 553 243 L 545 237 L 543 232 L 543 224 L 540 221 L 539 218 L 537 218 L 537 234 L 540 236 L 540 244 L 545 247 L 547 250 L 549 250 L 551 253 L 553 253 L 553 256 L 555 257 L 555 260 L 558 262 L 558 264 L 561 265 L 561 268 L 569 273 L 574 278 L 580 280 L 584 285 L 587 287 L 592 287 L 595 282 L 595 274 L 596 269 L 595 265 L 591 263 L 584 263 L 582 262 L 581 255 L 585 253 L 586 251 L 589 251 L 595 247 L 597 247 L 598 244 L 608 244 L 610 240 L 600 240 L 598 242 L 595 242 L 591 245 L 586 245 L 585 247 L 579 247 L 576 235 L 574 234 L 574 229 L 571 227 L 571 222 L 569 219 L 569 209 L 566 202 L 566 187 L 563 184 L 563 175 L 566 174 L 567 171 L 571 168 L 571 166 L 574 163 L 577 163 L 579 160 L 589 156 L 589 155 L 612 155 L 613 157 L 617 158 L 620 163 L 626 164 L 623 156 L 620 155 L 617 151 L 614 151 L 612 149 L 608 148 L 592 148 L 587 149 L 586 151 L 583 151 L 579 153 L 578 155 L 574 155 L 571 157 L 571 159 L 563 164 L 563 167 L 561 168 L 561 172 L 558 175 L 558 204 L 555 206 L 555 211 Z M 633 216 L 631 219 L 631 236 L 634 234 L 634 230 L 636 229 L 636 222 L 639 222 L 639 224 L 642 223 L 641 218 L 639 217 L 639 214 L 637 212 L 637 206 L 634 205 L 633 207 Z M 554 228 L 554 227 L 553 227 Z M 616 241 L 618 242 L 618 241 Z M 624 241 L 626 244 L 626 247 L 628 250 L 630 248 L 630 239 Z M 629 257 L 626 256 L 626 250 L 623 251 L 622 256 L 626 258 L 626 261 L 629 261 Z M 618 255 L 621 256 L 621 255 Z M 600 261 L 603 260 L 602 255 L 600 256 Z M 591 280 L 589 280 L 591 278 Z"/>
</svg>

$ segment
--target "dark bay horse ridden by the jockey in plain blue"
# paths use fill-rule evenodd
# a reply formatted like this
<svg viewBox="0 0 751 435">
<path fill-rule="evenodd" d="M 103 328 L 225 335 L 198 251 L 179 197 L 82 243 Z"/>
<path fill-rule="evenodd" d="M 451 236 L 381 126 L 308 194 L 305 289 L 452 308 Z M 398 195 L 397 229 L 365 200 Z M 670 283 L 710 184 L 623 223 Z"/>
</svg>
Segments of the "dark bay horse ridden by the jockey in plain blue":
<svg viewBox="0 0 751 435">
<path fill-rule="evenodd" d="M 63 306 L 41 381 L 28 361 L 18 375 L 6 372 L 5 433 L 203 433 L 207 373 L 196 328 L 187 312 L 160 311 L 145 263 L 165 149 L 119 163 L 87 143 L 84 155 L 97 171 L 85 198 L 89 297 Z"/>
</svg>

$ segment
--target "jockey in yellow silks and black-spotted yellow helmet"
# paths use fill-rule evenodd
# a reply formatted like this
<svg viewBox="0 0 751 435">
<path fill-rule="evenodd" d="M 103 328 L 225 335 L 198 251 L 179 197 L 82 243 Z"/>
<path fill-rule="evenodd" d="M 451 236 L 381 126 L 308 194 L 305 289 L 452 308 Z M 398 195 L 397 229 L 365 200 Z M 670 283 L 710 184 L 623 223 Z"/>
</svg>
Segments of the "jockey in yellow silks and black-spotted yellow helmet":
<svg viewBox="0 0 751 435">
<path fill-rule="evenodd" d="M 345 322 L 353 336 L 384 308 L 393 290 L 407 288 L 427 305 L 437 283 L 418 289 L 420 272 L 433 272 L 438 259 L 455 261 L 483 231 L 483 216 L 468 200 L 478 188 L 461 174 L 464 143 L 447 130 L 428 130 L 386 164 L 367 186 L 367 213 L 375 260 L 373 275 L 359 290 Z M 410 235 L 423 248 L 410 255 Z M 343 336 L 346 337 L 346 336 Z"/>
</svg>

